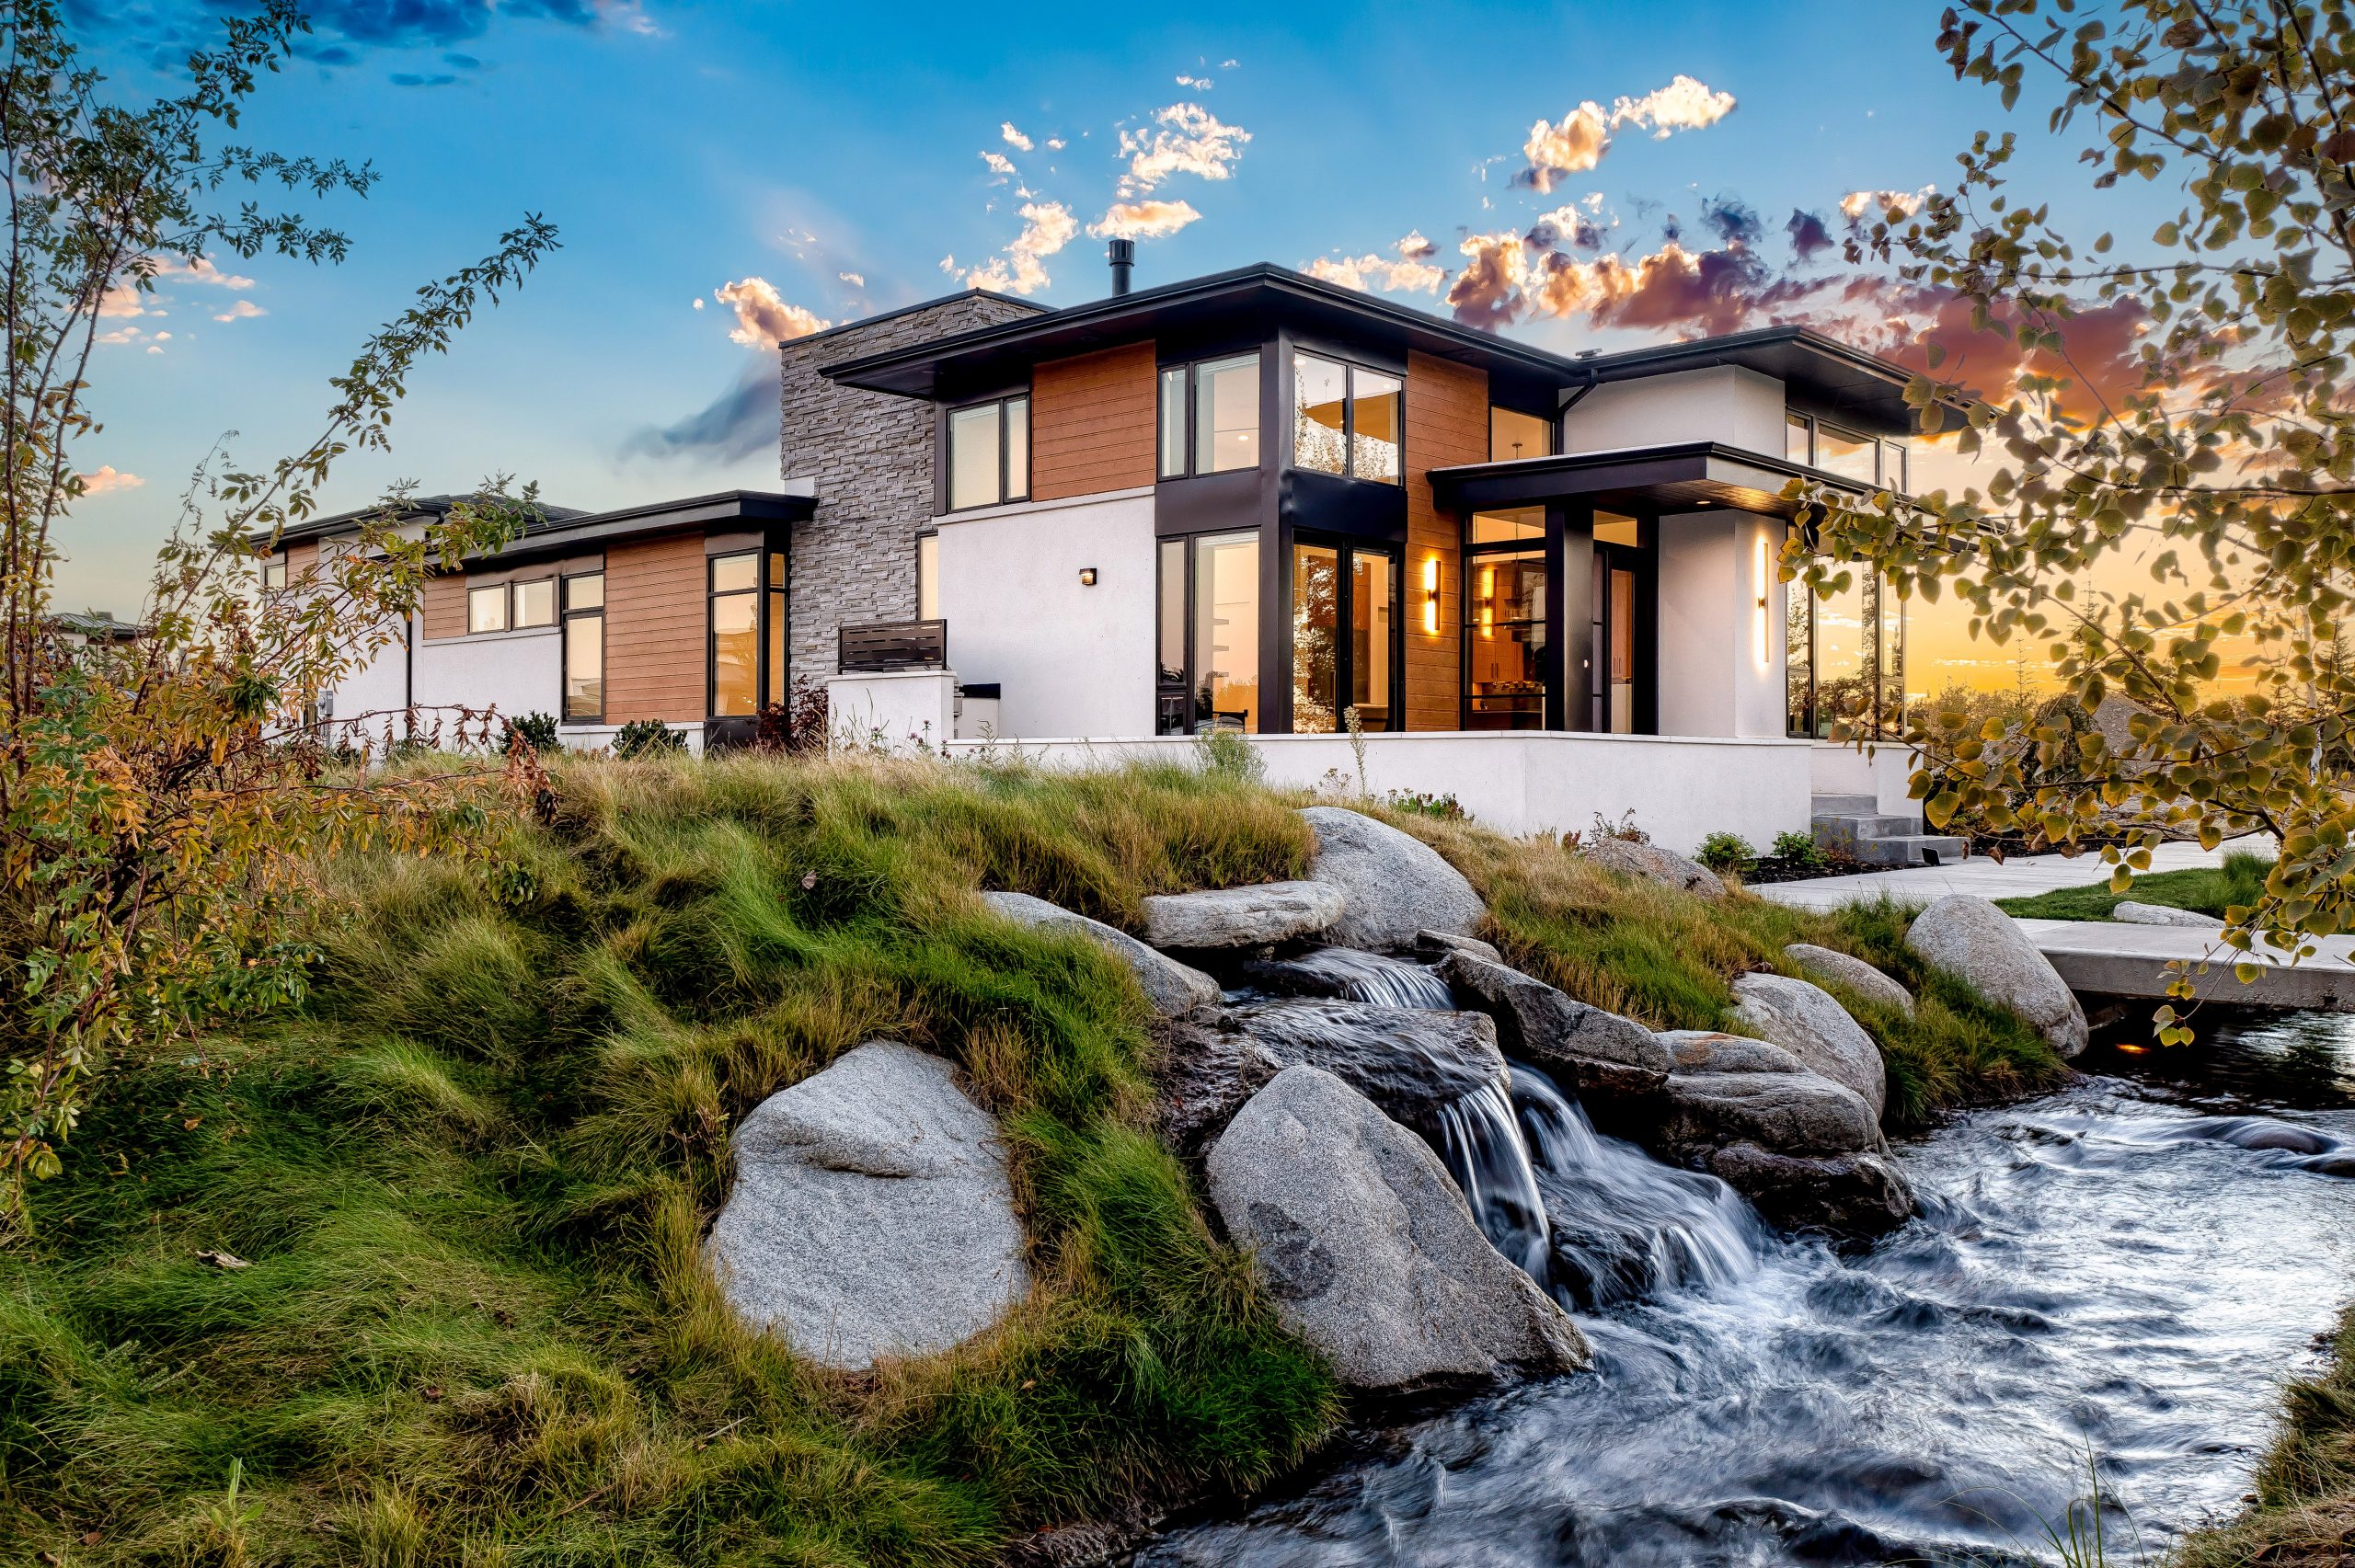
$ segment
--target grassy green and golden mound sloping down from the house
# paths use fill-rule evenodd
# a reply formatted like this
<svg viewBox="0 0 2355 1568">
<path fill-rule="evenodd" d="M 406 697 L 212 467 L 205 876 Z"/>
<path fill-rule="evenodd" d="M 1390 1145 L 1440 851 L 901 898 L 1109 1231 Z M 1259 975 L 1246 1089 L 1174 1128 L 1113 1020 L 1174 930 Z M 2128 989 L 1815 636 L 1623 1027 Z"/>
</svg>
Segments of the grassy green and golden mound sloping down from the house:
<svg viewBox="0 0 2355 1568">
<path fill-rule="evenodd" d="M 1295 800 L 1185 768 L 570 763 L 502 862 L 327 871 L 301 1015 L 125 1062 L 0 1255 L 0 1561 L 975 1563 L 1137 1500 L 1248 1488 L 1338 1420 L 1326 1368 L 1152 1137 L 1149 1010 L 975 888 L 1137 923 L 1298 876 Z M 1926 977 L 1903 918 L 1634 888 L 1401 819 L 1510 954 L 1658 1026 L 1780 946 L 1846 946 L 1922 1017 L 1893 1114 L 2058 1062 Z M 744 1333 L 699 1267 L 728 1128 L 876 1038 L 1006 1125 L 1039 1288 L 869 1377 Z"/>
</svg>

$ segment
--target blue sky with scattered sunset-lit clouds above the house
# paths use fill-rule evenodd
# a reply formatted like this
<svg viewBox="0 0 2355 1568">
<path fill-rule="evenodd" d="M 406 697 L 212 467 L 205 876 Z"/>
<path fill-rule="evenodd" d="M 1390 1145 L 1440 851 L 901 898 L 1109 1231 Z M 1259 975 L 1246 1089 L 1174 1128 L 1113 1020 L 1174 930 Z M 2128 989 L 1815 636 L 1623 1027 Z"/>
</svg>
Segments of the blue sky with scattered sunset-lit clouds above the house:
<svg viewBox="0 0 2355 1568">
<path fill-rule="evenodd" d="M 167 87 L 158 61 L 210 14 L 94 9 L 92 49 L 125 94 Z M 80 504 L 59 603 L 134 612 L 207 450 L 238 431 L 231 452 L 259 464 L 306 443 L 365 332 L 523 212 L 553 221 L 563 250 L 417 374 L 393 454 L 346 461 L 330 504 L 485 473 L 593 509 L 775 485 L 772 353 L 732 332 L 895 308 L 975 268 L 1043 304 L 1097 297 L 1088 226 L 1123 198 L 1163 226 L 1175 202 L 1192 212 L 1142 240 L 1147 285 L 1373 259 L 1349 275 L 1552 346 L 1776 318 L 1893 332 L 1879 294 L 1842 287 L 1837 245 L 1802 257 L 1790 224 L 1813 214 L 1837 240 L 1844 195 L 1945 181 L 1973 127 L 2006 122 L 1933 52 L 1936 14 L 1912 0 L 320 5 L 309 59 L 240 139 L 374 160 L 365 202 L 320 210 L 353 259 L 217 257 L 226 283 L 165 278 L 146 315 L 106 323 L 122 339 L 92 377 L 106 428 L 78 466 L 141 483 Z M 2009 125 L 2037 170 L 2065 177 L 2072 139 L 2025 111 Z M 1531 177 L 1533 146 L 1571 165 L 1585 148 L 1592 167 Z M 1024 228 L 1029 268 L 1008 250 Z M 1408 235 L 1422 245 L 1401 252 Z"/>
</svg>

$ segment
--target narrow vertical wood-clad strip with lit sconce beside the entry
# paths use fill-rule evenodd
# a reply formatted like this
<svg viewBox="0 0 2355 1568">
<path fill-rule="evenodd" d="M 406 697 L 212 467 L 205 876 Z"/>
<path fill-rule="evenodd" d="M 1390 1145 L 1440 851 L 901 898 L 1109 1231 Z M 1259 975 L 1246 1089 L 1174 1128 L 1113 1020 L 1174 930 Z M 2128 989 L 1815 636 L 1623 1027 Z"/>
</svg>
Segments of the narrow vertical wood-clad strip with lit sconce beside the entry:
<svg viewBox="0 0 2355 1568">
<path fill-rule="evenodd" d="M 1462 716 L 1462 530 L 1432 501 L 1432 469 L 1488 461 L 1488 372 L 1406 356 L 1406 727 Z M 1422 631 L 1422 572 L 1439 560 L 1439 629 Z"/>
</svg>

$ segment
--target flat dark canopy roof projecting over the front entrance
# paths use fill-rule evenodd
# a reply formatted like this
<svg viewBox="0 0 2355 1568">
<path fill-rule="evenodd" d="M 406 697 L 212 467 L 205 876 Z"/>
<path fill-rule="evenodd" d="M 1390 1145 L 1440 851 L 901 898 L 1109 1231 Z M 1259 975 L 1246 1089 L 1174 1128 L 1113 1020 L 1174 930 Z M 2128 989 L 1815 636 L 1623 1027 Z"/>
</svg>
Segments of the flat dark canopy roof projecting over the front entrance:
<svg viewBox="0 0 2355 1568">
<path fill-rule="evenodd" d="M 1432 497 L 1455 511 L 1580 501 L 1611 511 L 1677 513 L 1724 506 L 1790 518 L 1797 504 L 1783 497 L 1783 487 L 1795 478 L 1849 494 L 1872 492 L 1872 485 L 1806 464 L 1714 440 L 1689 440 L 1672 447 L 1566 452 L 1510 464 L 1432 469 Z"/>
</svg>

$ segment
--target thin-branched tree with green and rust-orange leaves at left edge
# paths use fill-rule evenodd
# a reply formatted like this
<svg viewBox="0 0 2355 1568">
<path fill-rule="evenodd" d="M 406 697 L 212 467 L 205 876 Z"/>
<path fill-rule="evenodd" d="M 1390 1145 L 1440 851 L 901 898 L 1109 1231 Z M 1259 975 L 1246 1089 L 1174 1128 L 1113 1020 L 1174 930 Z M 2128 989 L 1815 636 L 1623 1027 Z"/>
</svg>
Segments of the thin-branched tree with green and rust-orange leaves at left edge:
<svg viewBox="0 0 2355 1568">
<path fill-rule="evenodd" d="M 386 511 L 287 591 L 257 593 L 257 556 L 311 516 L 337 457 L 386 447 L 417 360 L 553 250 L 537 217 L 367 339 L 309 447 L 261 471 L 205 464 L 137 643 L 73 647 L 49 619 L 108 301 L 219 252 L 332 264 L 349 250 L 254 195 L 365 195 L 372 170 L 207 141 L 236 129 L 304 28 L 292 0 L 264 0 L 188 59 L 181 92 L 125 106 L 57 5 L 0 9 L 0 1231 L 24 1217 L 24 1182 L 59 1168 L 108 1052 L 301 994 L 316 857 L 476 852 L 495 803 L 495 768 L 337 765 L 301 716 L 382 647 L 436 563 L 511 537 L 530 492 L 490 483 L 424 537 L 396 534 Z M 243 198 L 217 207 L 224 188 Z M 528 753 L 516 765 L 528 772 Z"/>
</svg>

